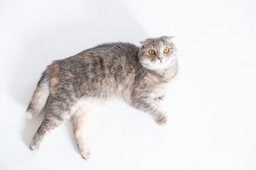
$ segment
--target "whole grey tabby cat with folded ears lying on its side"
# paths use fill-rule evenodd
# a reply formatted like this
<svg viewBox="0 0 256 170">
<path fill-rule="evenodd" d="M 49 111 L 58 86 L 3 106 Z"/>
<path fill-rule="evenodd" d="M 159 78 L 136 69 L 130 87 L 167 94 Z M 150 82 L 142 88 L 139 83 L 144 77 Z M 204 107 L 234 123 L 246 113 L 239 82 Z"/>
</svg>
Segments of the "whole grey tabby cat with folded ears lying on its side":
<svg viewBox="0 0 256 170">
<path fill-rule="evenodd" d="M 149 113 L 164 125 L 167 115 L 154 100 L 164 100 L 178 71 L 172 38 L 149 38 L 141 42 L 142 47 L 123 42 L 102 44 L 50 64 L 26 111 L 28 118 L 41 112 L 45 115 L 33 136 L 31 151 L 38 150 L 47 132 L 71 118 L 82 157 L 88 159 L 89 108 L 112 98 Z"/>
</svg>

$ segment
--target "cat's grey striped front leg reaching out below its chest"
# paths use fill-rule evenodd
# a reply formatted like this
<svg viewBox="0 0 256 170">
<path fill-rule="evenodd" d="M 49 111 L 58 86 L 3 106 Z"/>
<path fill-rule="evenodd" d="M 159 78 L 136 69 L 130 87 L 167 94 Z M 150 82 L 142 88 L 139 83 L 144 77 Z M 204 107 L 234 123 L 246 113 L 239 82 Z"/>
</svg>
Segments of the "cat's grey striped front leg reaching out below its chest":
<svg viewBox="0 0 256 170">
<path fill-rule="evenodd" d="M 149 113 L 159 125 L 165 125 L 167 122 L 168 117 L 166 113 L 159 106 L 156 106 L 153 98 L 134 99 L 132 106 L 140 111 Z"/>
</svg>

